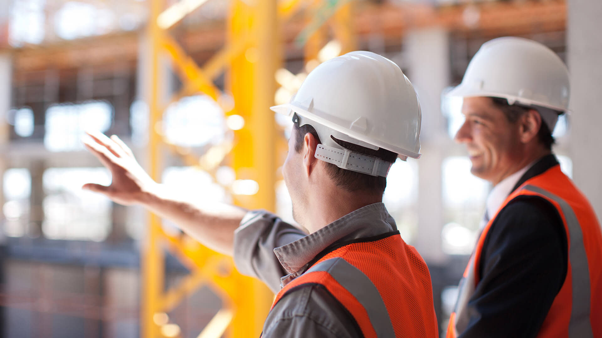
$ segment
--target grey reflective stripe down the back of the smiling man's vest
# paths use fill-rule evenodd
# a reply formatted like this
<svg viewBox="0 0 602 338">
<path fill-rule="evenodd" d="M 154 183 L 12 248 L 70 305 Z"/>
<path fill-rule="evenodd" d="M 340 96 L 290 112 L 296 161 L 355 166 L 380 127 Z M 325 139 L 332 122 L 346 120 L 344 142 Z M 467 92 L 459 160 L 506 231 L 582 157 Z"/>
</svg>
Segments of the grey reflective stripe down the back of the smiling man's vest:
<svg viewBox="0 0 602 338">
<path fill-rule="evenodd" d="M 573 309 L 571 309 L 571 321 L 569 322 L 569 337 L 594 337 L 592 325 L 589 319 L 589 308 L 591 293 L 589 288 L 588 255 L 583 247 L 583 233 L 573 208 L 562 198 L 551 194 L 537 186 L 526 185 L 523 189 L 533 191 L 550 198 L 560 205 L 569 231 L 569 253 L 571 262 L 571 277 L 573 278 Z"/>
</svg>

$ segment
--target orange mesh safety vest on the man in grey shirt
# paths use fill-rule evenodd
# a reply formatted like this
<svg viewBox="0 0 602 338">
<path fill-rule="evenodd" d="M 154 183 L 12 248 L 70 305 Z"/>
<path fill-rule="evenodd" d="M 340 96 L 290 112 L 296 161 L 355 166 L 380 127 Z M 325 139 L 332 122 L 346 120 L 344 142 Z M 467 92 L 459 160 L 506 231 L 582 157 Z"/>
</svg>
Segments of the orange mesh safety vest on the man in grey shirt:
<svg viewBox="0 0 602 338">
<path fill-rule="evenodd" d="M 276 295 L 272 309 L 302 284 L 326 287 L 365 338 L 439 336 L 429 269 L 399 232 L 326 254 Z"/>
</svg>

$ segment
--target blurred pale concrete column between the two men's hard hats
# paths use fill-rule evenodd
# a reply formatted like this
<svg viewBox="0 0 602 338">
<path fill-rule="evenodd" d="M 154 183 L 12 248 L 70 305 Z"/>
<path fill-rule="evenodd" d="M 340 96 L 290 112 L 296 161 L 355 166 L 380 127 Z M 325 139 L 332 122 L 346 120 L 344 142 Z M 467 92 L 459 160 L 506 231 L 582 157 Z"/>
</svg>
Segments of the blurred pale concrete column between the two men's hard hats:
<svg viewBox="0 0 602 338">
<path fill-rule="evenodd" d="M 418 29 L 405 36 L 408 78 L 422 106 L 421 153 L 418 159 L 418 233 L 415 247 L 429 263 L 441 263 L 443 206 L 441 164 L 448 142 L 441 115 L 441 92 L 449 84 L 448 33 L 441 28 Z"/>
</svg>

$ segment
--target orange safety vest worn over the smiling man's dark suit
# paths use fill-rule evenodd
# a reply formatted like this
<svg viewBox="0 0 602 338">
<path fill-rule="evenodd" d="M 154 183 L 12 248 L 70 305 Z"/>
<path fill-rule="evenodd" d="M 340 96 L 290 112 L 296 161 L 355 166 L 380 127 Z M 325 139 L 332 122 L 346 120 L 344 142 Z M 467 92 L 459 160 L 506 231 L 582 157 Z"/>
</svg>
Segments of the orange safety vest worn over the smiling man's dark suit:
<svg viewBox="0 0 602 338">
<path fill-rule="evenodd" d="M 539 329 L 538 337 L 602 337 L 602 235 L 594 210 L 574 183 L 560 171 L 560 165 L 527 180 L 506 198 L 497 214 L 506 204 L 521 196 L 538 196 L 556 207 L 567 240 L 566 278 Z M 483 229 L 464 271 L 447 338 L 455 338 L 462 333 L 470 320 L 468 301 L 479 283 L 483 243 L 495 217 Z"/>
</svg>

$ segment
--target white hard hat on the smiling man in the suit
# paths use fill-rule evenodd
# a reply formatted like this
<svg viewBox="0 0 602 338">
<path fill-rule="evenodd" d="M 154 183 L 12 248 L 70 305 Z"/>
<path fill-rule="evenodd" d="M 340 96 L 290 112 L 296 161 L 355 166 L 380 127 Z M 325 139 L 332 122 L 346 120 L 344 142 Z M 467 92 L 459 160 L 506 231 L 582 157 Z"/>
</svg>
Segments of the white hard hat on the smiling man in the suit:
<svg viewBox="0 0 602 338">
<path fill-rule="evenodd" d="M 447 95 L 501 97 L 510 105 L 534 106 L 553 130 L 554 112 L 568 112 L 569 75 L 558 55 L 541 43 L 500 37 L 483 43 L 462 83 Z"/>
</svg>

